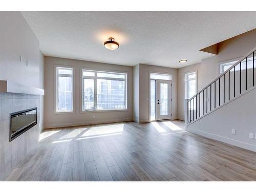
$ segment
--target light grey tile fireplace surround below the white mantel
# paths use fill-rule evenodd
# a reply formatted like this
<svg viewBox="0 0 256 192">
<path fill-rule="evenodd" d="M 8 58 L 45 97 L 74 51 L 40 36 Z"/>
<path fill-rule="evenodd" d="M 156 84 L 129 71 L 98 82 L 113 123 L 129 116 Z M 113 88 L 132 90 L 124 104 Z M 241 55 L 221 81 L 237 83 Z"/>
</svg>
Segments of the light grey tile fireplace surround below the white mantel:
<svg viewBox="0 0 256 192">
<path fill-rule="evenodd" d="M 6 179 L 20 160 L 25 158 L 38 142 L 41 132 L 41 100 L 43 96 L 0 93 L 0 181 Z M 9 142 L 10 113 L 37 107 L 37 124 Z"/>
</svg>

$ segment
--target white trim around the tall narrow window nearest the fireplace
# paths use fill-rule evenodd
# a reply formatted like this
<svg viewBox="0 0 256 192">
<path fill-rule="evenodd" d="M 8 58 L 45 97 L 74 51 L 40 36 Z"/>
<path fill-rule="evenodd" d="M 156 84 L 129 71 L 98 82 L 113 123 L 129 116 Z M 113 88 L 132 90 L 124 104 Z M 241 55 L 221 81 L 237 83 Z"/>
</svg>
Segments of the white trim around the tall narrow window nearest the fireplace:
<svg viewBox="0 0 256 192">
<path fill-rule="evenodd" d="M 72 111 L 57 111 L 57 99 L 58 99 L 58 91 L 57 91 L 57 68 L 71 68 L 72 69 L 72 99 L 73 106 Z M 61 75 L 65 76 L 65 75 Z M 67 75 L 70 76 L 70 75 Z M 75 113 L 75 67 L 74 66 L 62 66 L 62 65 L 54 65 L 54 114 L 74 114 Z"/>
</svg>

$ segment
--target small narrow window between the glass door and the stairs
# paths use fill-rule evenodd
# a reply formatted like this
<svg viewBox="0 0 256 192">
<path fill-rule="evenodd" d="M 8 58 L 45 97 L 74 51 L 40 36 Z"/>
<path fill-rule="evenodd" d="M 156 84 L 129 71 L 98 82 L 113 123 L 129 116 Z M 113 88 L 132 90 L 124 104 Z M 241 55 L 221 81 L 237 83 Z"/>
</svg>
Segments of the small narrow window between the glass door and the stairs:
<svg viewBox="0 0 256 192">
<path fill-rule="evenodd" d="M 196 95 L 196 72 L 185 74 L 185 98 L 190 99 L 192 96 Z"/>
</svg>

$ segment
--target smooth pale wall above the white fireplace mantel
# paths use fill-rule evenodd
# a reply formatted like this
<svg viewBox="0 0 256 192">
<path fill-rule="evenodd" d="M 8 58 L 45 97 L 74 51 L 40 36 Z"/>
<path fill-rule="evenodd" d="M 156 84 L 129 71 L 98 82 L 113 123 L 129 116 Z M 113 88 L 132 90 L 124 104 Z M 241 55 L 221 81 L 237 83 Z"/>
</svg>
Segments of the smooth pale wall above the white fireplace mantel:
<svg viewBox="0 0 256 192">
<path fill-rule="evenodd" d="M 18 11 L 2 11 L 0 26 L 0 80 L 40 87 L 39 41 L 25 18 Z"/>
</svg>

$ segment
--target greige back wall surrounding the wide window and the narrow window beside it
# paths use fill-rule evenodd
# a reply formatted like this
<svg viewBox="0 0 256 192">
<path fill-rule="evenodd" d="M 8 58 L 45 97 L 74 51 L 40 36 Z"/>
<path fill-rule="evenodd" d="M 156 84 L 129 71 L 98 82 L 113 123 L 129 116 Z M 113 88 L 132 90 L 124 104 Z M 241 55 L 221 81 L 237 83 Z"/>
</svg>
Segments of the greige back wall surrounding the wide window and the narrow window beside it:
<svg viewBox="0 0 256 192">
<path fill-rule="evenodd" d="M 55 114 L 54 113 L 54 66 L 73 66 L 75 83 L 75 106 L 74 114 Z M 110 70 L 126 72 L 127 75 L 127 111 L 95 111 L 81 112 L 81 68 L 95 70 Z M 91 61 L 82 61 L 74 59 L 65 59 L 57 57 L 45 57 L 45 127 L 75 126 L 84 124 L 108 123 L 117 121 L 133 120 L 133 67 L 111 65 L 108 63 L 99 63 Z M 93 118 L 95 116 L 95 118 Z"/>
</svg>

